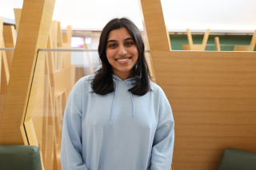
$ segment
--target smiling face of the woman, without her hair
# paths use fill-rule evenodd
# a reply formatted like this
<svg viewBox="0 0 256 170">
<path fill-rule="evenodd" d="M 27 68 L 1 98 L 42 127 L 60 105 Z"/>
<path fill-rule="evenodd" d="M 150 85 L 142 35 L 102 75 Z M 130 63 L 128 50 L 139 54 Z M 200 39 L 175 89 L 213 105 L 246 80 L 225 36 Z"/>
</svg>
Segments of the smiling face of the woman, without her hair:
<svg viewBox="0 0 256 170">
<path fill-rule="evenodd" d="M 138 60 L 138 49 L 125 27 L 110 31 L 106 43 L 106 57 L 116 76 L 122 80 L 132 77 L 132 68 Z"/>
</svg>

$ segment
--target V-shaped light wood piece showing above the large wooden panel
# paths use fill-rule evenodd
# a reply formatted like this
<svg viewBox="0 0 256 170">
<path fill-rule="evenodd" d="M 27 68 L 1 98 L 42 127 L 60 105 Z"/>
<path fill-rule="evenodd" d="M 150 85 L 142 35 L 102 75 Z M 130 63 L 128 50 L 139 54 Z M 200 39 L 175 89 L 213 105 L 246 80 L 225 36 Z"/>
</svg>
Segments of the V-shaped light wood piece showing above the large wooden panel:
<svg viewBox="0 0 256 170">
<path fill-rule="evenodd" d="M 206 43 L 209 38 L 210 29 L 206 30 L 206 33 L 204 34 L 203 39 L 202 39 L 202 44 L 193 44 L 193 38 L 192 38 L 192 35 L 190 32 L 190 29 L 186 29 L 186 33 L 187 33 L 187 39 L 189 41 L 189 44 L 188 45 L 182 44 L 183 50 L 204 51 L 206 49 Z"/>
</svg>

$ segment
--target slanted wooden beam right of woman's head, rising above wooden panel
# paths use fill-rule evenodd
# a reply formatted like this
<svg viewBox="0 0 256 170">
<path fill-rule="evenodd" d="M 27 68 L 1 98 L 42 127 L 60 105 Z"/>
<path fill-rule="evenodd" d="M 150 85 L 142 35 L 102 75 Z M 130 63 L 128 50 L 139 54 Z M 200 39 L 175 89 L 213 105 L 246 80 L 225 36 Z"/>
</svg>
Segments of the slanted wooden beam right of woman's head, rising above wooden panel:
<svg viewBox="0 0 256 170">
<path fill-rule="evenodd" d="M 146 41 L 150 50 L 170 51 L 160 0 L 138 0 Z"/>
</svg>

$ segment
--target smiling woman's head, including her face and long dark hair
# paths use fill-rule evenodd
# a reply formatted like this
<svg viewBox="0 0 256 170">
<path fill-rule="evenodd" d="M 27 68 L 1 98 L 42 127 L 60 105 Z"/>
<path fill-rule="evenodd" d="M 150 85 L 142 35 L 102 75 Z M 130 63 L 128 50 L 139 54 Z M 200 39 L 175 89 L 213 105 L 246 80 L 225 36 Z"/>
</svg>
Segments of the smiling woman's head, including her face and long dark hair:
<svg viewBox="0 0 256 170">
<path fill-rule="evenodd" d="M 94 93 L 104 95 L 114 92 L 113 73 L 122 80 L 134 77 L 137 83 L 129 89 L 133 94 L 143 96 L 150 91 L 151 77 L 144 51 L 142 34 L 133 22 L 126 18 L 108 22 L 98 45 L 102 68 L 96 71 L 92 81 Z"/>
</svg>

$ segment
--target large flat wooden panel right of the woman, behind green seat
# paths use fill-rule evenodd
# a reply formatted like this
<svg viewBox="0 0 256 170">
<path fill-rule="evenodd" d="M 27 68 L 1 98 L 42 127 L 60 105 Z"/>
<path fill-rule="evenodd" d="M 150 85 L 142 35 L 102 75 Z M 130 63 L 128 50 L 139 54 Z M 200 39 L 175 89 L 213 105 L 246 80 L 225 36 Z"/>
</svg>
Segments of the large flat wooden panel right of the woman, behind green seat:
<svg viewBox="0 0 256 170">
<path fill-rule="evenodd" d="M 151 51 L 174 113 L 175 170 L 215 170 L 227 147 L 256 152 L 254 52 Z"/>
</svg>

